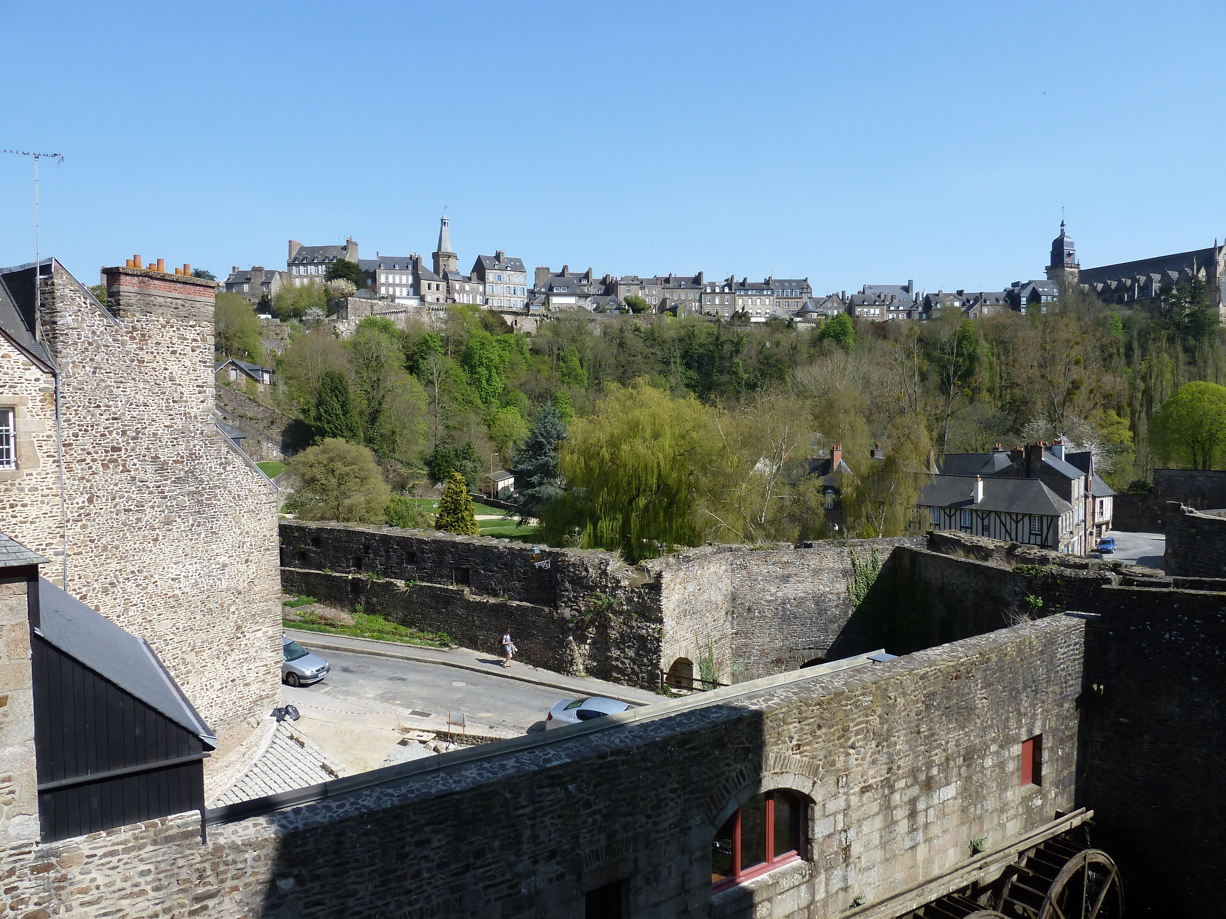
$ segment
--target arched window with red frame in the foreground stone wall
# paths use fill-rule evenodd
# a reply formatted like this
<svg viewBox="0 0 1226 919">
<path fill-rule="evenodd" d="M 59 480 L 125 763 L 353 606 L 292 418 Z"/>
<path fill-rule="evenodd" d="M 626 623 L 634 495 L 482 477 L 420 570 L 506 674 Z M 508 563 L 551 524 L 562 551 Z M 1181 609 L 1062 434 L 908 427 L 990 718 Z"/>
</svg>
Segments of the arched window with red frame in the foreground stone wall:
<svg viewBox="0 0 1226 919">
<path fill-rule="evenodd" d="M 782 789 L 745 801 L 711 841 L 712 892 L 798 861 L 804 812 L 804 801 Z"/>
</svg>

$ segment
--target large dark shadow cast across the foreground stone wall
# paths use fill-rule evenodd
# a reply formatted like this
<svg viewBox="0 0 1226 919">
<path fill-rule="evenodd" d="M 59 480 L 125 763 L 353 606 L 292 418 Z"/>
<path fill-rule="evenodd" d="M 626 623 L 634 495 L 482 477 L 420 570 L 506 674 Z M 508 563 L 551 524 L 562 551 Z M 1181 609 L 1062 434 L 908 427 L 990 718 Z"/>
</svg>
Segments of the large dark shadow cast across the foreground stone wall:
<svg viewBox="0 0 1226 919">
<path fill-rule="evenodd" d="M 712 876 L 712 849 L 717 859 L 727 853 L 727 864 L 716 869 L 734 870 L 732 839 L 723 837 L 742 805 L 749 806 L 741 823 L 742 852 L 766 844 L 765 826 L 754 821 L 765 812 L 764 792 L 775 788 L 804 805 L 796 809 L 791 838 L 803 838 L 798 854 L 814 858 L 813 777 L 764 778 L 761 712 L 712 706 L 626 725 L 600 738 L 606 741 L 600 756 L 592 755 L 591 738 L 571 739 L 574 733 L 549 732 L 547 749 L 521 746 L 484 761 L 470 751 L 445 754 L 429 772 L 408 763 L 365 773 L 367 779 L 384 773 L 390 783 L 403 782 L 403 794 L 380 789 L 385 803 L 375 810 L 360 806 L 358 792 L 268 815 L 278 837 L 262 844 L 276 850 L 256 855 L 271 855 L 275 866 L 243 906 L 278 918 L 331 914 L 341 904 L 354 915 L 527 917 L 548 904 L 550 914 L 622 917 L 664 914 L 688 896 L 695 913 L 706 914 L 711 888 L 687 890 L 687 879 Z M 542 758 L 559 765 L 542 767 Z M 677 768 L 678 762 L 687 768 Z M 631 778 L 641 776 L 652 779 Z M 386 804 L 396 796 L 401 804 Z M 787 803 L 779 805 L 785 820 Z M 345 810 L 353 816 L 325 816 Z M 326 832 L 314 816 L 324 817 Z M 780 828 L 776 838 L 786 841 L 788 833 Z M 747 858 L 743 872 L 755 858 Z M 807 872 L 790 874 L 786 887 L 807 880 Z"/>
</svg>

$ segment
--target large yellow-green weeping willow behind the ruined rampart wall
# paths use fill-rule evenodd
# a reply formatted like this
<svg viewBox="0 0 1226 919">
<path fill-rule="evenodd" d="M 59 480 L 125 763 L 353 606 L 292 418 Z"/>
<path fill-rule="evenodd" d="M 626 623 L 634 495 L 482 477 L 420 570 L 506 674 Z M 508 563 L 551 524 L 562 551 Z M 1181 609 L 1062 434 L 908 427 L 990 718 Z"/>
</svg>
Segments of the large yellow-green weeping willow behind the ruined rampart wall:
<svg viewBox="0 0 1226 919">
<path fill-rule="evenodd" d="M 609 384 L 587 418 L 576 418 L 562 450 L 566 494 L 542 512 L 554 544 L 620 551 L 635 562 L 701 540 L 695 505 L 710 412 L 672 398 L 646 380 Z"/>
</svg>

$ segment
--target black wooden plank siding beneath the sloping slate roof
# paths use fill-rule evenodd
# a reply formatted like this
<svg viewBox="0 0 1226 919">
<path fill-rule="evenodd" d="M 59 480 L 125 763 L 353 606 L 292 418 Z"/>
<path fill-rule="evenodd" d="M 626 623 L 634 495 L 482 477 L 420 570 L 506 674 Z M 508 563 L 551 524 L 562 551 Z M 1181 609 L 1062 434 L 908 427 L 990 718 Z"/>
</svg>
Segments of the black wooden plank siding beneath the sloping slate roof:
<svg viewBox="0 0 1226 919">
<path fill-rule="evenodd" d="M 44 842 L 204 807 L 199 736 L 40 636 L 31 645 Z"/>
</svg>

